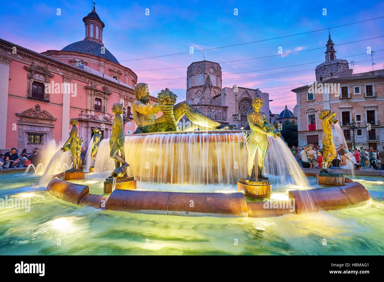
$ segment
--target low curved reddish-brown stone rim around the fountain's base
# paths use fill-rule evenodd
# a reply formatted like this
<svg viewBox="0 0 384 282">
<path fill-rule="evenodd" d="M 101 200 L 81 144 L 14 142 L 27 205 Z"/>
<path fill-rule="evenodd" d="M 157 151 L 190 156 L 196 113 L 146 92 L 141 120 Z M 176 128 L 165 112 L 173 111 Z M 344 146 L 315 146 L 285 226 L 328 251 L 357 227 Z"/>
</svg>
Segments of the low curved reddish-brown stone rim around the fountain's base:
<svg viewBox="0 0 384 282">
<path fill-rule="evenodd" d="M 316 177 L 316 173 L 306 173 Z M 89 187 L 61 180 L 55 175 L 47 186 L 52 195 L 73 204 L 133 213 L 178 216 L 270 217 L 359 206 L 371 199 L 366 188 L 345 178 L 346 185 L 310 190 L 290 190 L 295 208 L 265 208 L 265 202 L 247 202 L 243 193 L 185 193 L 140 190 L 114 190 L 111 195 L 89 193 Z M 280 201 L 282 202 L 282 201 Z"/>
</svg>

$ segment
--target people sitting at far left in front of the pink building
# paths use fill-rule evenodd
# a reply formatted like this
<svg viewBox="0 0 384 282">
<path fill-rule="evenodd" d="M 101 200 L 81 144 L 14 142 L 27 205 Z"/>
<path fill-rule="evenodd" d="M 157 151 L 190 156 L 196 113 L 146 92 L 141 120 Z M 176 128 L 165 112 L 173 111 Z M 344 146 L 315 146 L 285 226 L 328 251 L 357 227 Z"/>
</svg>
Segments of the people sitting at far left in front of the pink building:
<svg viewBox="0 0 384 282">
<path fill-rule="evenodd" d="M 12 148 L 10 152 L 0 154 L 0 169 L 28 167 L 31 163 L 36 167 L 40 163 L 39 148 L 35 148 L 32 153 L 27 153 L 23 149 L 21 153 L 17 148 Z"/>
</svg>

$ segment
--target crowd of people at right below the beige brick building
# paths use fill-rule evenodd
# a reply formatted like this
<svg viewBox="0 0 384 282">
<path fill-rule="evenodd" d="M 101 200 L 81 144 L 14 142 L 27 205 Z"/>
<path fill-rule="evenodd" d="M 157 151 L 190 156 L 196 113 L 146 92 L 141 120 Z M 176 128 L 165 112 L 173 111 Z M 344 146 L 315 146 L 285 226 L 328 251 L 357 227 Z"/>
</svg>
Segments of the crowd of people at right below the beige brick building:
<svg viewBox="0 0 384 282">
<path fill-rule="evenodd" d="M 339 148 L 335 147 L 336 157 L 332 161 L 333 169 L 360 169 L 361 167 L 370 167 L 371 170 L 384 170 L 384 149 L 369 150 L 360 147 L 349 148 L 347 150 L 343 144 Z M 320 168 L 323 163 L 323 151 L 320 146 L 313 144 L 300 147 L 292 146 L 291 152 L 302 168 Z"/>
</svg>

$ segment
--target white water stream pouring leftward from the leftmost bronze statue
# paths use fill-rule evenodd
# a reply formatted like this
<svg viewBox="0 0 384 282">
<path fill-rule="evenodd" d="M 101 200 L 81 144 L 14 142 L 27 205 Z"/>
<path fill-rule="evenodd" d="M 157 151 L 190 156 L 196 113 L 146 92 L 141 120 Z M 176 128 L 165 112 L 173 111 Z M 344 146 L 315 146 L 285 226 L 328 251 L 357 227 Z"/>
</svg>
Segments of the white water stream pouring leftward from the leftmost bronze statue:
<svg viewBox="0 0 384 282">
<path fill-rule="evenodd" d="M 41 176 L 40 179 L 40 186 L 46 186 L 48 185 L 49 181 L 51 181 L 51 178 L 53 175 L 57 173 L 61 173 L 64 171 L 64 167 L 68 167 L 68 164 L 72 162 L 71 153 L 69 151 L 63 152 L 63 150 L 59 149 L 53 155 L 50 162 L 46 166 L 46 170 Z"/>
</svg>

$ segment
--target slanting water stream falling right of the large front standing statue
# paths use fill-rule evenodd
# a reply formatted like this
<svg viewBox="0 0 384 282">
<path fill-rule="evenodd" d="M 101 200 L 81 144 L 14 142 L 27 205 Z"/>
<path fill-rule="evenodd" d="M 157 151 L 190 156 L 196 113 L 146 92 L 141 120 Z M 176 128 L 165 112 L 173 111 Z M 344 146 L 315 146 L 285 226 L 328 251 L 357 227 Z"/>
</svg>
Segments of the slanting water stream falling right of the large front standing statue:
<svg viewBox="0 0 384 282">
<path fill-rule="evenodd" d="M 280 137 L 268 137 L 268 143 L 270 146 L 265 154 L 263 172 L 276 175 L 278 183 L 293 183 L 307 188 L 308 180 L 284 141 Z"/>
</svg>

